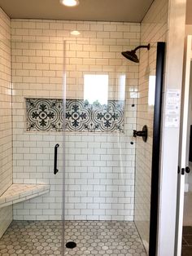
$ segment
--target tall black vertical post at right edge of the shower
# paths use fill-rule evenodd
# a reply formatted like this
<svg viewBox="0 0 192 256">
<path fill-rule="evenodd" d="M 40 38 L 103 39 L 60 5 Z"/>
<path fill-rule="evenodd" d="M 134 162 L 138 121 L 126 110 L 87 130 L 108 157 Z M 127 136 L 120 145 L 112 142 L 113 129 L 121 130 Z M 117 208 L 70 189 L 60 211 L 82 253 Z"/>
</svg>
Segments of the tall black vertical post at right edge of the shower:
<svg viewBox="0 0 192 256">
<path fill-rule="evenodd" d="M 164 82 L 164 55 L 165 43 L 157 43 L 156 56 L 156 79 L 155 79 L 155 106 L 153 125 L 153 148 L 152 148 L 152 171 L 151 171 L 151 213 L 150 213 L 150 245 L 149 256 L 157 254 L 158 245 L 158 216 L 159 216 L 159 158 L 160 158 L 160 138 L 162 96 Z"/>
</svg>

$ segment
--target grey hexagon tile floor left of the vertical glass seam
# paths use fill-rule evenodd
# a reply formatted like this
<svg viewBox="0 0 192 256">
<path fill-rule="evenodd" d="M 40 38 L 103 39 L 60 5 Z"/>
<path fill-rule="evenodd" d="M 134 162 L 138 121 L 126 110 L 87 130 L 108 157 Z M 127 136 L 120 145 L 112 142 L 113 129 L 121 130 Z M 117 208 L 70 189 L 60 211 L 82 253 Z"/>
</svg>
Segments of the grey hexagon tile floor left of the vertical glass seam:
<svg viewBox="0 0 192 256">
<path fill-rule="evenodd" d="M 0 240 L 0 255 L 61 255 L 61 230 L 61 221 L 13 221 Z"/>
</svg>

